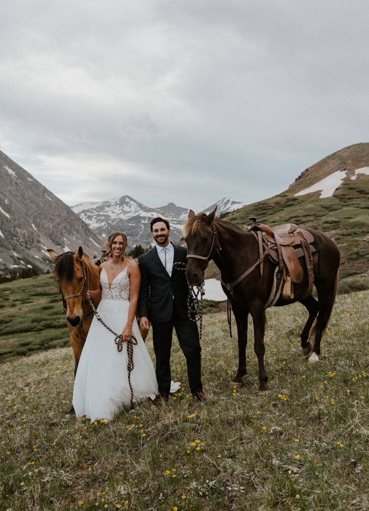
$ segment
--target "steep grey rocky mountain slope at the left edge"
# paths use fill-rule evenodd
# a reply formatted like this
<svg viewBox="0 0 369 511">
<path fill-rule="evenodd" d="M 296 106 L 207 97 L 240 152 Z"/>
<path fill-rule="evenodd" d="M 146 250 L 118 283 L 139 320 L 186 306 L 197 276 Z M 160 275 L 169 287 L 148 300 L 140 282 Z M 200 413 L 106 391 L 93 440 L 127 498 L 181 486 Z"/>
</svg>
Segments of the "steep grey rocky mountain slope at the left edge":
<svg viewBox="0 0 369 511">
<path fill-rule="evenodd" d="M 0 272 L 50 268 L 57 253 L 82 245 L 93 256 L 103 240 L 31 174 L 0 151 Z"/>
</svg>

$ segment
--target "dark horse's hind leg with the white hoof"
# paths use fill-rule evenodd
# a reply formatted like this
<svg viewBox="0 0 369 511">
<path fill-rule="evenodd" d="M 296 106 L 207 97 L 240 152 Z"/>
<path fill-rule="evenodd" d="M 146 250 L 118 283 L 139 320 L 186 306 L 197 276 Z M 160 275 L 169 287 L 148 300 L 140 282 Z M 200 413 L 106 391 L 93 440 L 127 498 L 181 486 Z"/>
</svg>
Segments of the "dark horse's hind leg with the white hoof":
<svg viewBox="0 0 369 511">
<path fill-rule="evenodd" d="M 319 355 L 321 354 L 321 340 L 328 326 L 329 318 L 331 317 L 331 312 L 337 293 L 337 284 L 338 271 L 333 283 L 328 281 L 315 282 L 315 287 L 318 295 L 319 311 L 314 326 L 310 332 L 310 338 L 312 339 L 312 353 L 309 358 L 309 364 L 313 364 L 319 360 Z"/>
</svg>

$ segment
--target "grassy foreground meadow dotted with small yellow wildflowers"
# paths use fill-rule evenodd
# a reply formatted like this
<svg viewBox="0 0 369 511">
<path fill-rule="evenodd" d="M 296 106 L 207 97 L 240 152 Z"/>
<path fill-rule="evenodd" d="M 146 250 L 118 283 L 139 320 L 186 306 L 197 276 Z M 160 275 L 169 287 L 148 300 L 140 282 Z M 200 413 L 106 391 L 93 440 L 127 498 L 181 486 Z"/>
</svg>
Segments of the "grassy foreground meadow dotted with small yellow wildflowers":
<svg viewBox="0 0 369 511">
<path fill-rule="evenodd" d="M 41 279 L 40 293 L 41 282 L 48 292 L 50 277 Z M 53 297 L 46 293 L 38 307 L 54 307 Z M 256 392 L 252 322 L 248 374 L 233 389 L 237 339 L 229 338 L 226 314 L 210 312 L 202 339 L 208 400 L 189 396 L 175 342 L 172 377 L 181 390 L 161 406 L 146 401 L 122 410 L 111 423 L 64 417 L 73 388 L 70 347 L 5 360 L 1 509 L 369 509 L 368 301 L 369 291 L 338 296 L 314 365 L 300 352 L 305 309 L 268 310 L 272 390 L 264 396 Z M 53 328 L 62 339 L 62 327 Z M 42 332 L 31 335 L 40 339 Z M 150 336 L 147 345 L 153 357 Z"/>
</svg>

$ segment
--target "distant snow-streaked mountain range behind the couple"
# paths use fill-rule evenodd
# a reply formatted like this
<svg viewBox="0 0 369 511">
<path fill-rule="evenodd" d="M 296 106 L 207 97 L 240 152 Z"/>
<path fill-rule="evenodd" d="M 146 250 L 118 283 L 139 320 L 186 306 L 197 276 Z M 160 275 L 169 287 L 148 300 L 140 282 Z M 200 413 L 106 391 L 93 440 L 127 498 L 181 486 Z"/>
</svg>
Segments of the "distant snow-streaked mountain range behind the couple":
<svg viewBox="0 0 369 511">
<path fill-rule="evenodd" d="M 196 209 L 195 213 L 199 211 L 210 213 L 216 205 L 218 205 L 217 215 L 219 215 L 236 210 L 245 204 L 226 197 L 211 206 L 205 206 L 202 210 Z M 173 202 L 165 206 L 148 207 L 129 195 L 101 202 L 82 202 L 71 208 L 103 238 L 116 230 L 124 231 L 131 248 L 138 244 L 147 247 L 152 243 L 150 221 L 155 217 L 167 219 L 170 224 L 171 239 L 179 241 L 182 236 L 182 226 L 190 210 L 190 207 L 177 206 Z"/>
</svg>

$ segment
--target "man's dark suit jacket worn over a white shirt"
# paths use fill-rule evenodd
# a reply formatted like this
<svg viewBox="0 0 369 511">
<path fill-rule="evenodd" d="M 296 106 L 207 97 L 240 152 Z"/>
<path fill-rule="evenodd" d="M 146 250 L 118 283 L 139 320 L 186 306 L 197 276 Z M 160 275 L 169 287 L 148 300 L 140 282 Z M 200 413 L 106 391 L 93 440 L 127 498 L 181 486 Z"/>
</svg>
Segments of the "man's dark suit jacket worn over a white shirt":
<svg viewBox="0 0 369 511">
<path fill-rule="evenodd" d="M 175 263 L 186 263 L 187 249 L 174 245 Z M 138 258 L 141 288 L 138 298 L 138 315 L 146 316 L 152 323 L 169 321 L 175 302 L 181 318 L 188 318 L 188 285 L 183 270 L 173 267 L 171 276 L 160 261 L 156 246 Z M 174 299 L 173 299 L 174 298 Z"/>
</svg>

